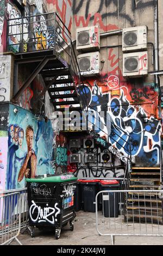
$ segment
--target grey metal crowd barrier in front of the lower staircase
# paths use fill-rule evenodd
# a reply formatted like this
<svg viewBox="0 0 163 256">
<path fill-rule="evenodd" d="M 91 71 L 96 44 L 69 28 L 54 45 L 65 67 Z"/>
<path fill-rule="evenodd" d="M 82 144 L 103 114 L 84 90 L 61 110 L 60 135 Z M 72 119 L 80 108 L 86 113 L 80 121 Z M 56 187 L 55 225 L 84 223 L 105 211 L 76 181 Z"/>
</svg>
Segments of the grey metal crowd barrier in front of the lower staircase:
<svg viewBox="0 0 163 256">
<path fill-rule="evenodd" d="M 107 190 L 96 195 L 99 235 L 163 236 L 163 190 Z M 99 211 L 101 209 L 101 211 Z"/>
</svg>

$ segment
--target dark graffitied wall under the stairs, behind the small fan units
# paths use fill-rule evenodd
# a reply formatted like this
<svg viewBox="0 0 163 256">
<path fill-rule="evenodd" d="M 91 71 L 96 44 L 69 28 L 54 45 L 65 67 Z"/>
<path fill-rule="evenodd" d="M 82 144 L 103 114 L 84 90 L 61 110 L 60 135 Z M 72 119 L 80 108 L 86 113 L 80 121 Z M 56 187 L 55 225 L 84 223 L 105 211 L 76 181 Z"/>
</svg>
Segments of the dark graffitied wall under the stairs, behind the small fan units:
<svg viewBox="0 0 163 256">
<path fill-rule="evenodd" d="M 73 173 L 78 176 L 78 178 L 123 178 L 125 165 L 118 157 L 114 154 L 111 154 L 108 149 L 105 149 L 101 143 L 98 143 L 94 140 L 94 145 L 92 148 L 86 148 L 84 146 L 84 139 L 92 139 L 90 136 L 76 137 L 80 139 L 80 148 L 70 147 L 68 143 L 68 172 Z M 80 160 L 78 163 L 71 162 L 71 155 L 79 154 Z M 86 154 L 92 154 L 95 157 L 95 160 L 92 162 L 87 162 Z M 106 156 L 106 161 L 103 161 L 103 155 Z"/>
</svg>

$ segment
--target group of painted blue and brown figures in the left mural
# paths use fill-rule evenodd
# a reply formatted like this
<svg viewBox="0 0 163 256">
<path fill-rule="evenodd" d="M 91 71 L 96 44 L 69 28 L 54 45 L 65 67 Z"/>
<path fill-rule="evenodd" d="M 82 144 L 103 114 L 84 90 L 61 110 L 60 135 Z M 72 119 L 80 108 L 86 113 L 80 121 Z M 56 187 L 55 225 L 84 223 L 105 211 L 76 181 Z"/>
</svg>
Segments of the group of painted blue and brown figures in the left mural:
<svg viewBox="0 0 163 256">
<path fill-rule="evenodd" d="M 25 178 L 35 176 L 36 155 L 33 150 L 34 130 L 31 125 L 26 129 L 26 143 L 28 151 L 24 151 L 24 130 L 18 124 L 9 126 L 9 165 L 7 172 L 7 188 L 25 186 Z"/>
</svg>

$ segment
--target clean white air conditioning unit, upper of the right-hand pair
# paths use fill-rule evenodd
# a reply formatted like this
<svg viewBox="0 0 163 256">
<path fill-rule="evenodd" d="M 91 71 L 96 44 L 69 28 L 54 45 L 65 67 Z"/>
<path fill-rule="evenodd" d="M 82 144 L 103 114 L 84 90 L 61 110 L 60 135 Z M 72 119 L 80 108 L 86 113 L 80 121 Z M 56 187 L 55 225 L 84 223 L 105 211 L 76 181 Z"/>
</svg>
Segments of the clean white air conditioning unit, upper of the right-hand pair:
<svg viewBox="0 0 163 256">
<path fill-rule="evenodd" d="M 147 27 L 124 28 L 122 32 L 122 51 L 147 50 Z"/>
</svg>

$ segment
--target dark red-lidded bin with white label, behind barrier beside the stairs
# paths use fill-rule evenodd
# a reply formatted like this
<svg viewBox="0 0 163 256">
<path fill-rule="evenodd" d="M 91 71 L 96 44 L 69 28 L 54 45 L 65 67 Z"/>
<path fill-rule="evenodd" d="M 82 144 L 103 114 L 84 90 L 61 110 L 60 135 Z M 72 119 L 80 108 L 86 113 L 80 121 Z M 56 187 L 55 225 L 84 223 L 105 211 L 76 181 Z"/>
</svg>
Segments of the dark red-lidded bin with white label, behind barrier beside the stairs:
<svg viewBox="0 0 163 256">
<path fill-rule="evenodd" d="M 101 180 L 101 191 L 118 190 L 120 184 L 117 180 Z M 104 217 L 118 217 L 118 193 L 102 193 L 102 210 Z"/>
</svg>

